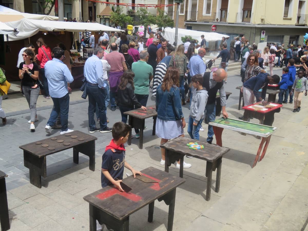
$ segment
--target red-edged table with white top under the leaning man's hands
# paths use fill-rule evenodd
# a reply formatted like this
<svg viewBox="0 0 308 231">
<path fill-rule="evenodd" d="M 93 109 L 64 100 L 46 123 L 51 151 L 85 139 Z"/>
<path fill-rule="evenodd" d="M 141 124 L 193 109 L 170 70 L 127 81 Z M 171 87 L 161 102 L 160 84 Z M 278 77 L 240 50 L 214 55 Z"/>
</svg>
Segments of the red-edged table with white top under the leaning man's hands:
<svg viewBox="0 0 308 231">
<path fill-rule="evenodd" d="M 259 102 L 260 103 L 260 102 Z M 251 105 L 243 107 L 245 109 L 243 120 L 247 121 L 248 118 L 256 118 L 259 120 L 259 124 L 264 124 L 267 126 L 272 126 L 274 123 L 274 114 L 276 112 L 280 112 L 280 108 L 282 107 L 282 104 L 277 103 L 270 103 L 272 108 L 264 108 L 259 103 L 253 103 Z M 252 107 L 260 107 L 262 110 L 255 110 L 255 108 Z"/>
</svg>

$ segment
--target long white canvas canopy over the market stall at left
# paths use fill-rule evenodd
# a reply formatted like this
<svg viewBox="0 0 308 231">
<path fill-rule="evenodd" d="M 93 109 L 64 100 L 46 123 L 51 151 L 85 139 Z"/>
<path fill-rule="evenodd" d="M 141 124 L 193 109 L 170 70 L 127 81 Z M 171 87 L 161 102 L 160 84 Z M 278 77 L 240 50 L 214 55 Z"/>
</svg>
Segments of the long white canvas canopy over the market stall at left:
<svg viewBox="0 0 308 231">
<path fill-rule="evenodd" d="M 9 41 L 26 39 L 39 31 L 116 31 L 120 32 L 122 30 L 115 29 L 110 26 L 105 26 L 99 23 L 87 23 L 87 22 L 60 22 L 60 21 L 47 21 L 47 20 L 35 20 L 23 18 L 19 21 L 6 22 L 6 25 L 17 28 L 19 30 L 18 35 L 9 35 Z"/>
</svg>

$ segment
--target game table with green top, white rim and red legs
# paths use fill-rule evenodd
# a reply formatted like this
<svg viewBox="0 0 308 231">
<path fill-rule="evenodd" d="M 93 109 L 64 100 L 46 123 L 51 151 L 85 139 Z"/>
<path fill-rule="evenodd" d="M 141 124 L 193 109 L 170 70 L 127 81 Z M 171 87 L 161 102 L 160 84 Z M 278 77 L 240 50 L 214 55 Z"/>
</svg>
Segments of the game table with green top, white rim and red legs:
<svg viewBox="0 0 308 231">
<path fill-rule="evenodd" d="M 227 123 L 226 123 L 227 122 Z M 250 134 L 250 135 L 255 135 L 255 136 L 261 136 L 262 140 L 259 145 L 259 149 L 257 151 L 256 158 L 254 160 L 253 166 L 254 167 L 257 164 L 257 161 L 259 159 L 259 156 L 261 154 L 263 144 L 264 148 L 262 151 L 262 155 L 260 157 L 260 161 L 263 159 L 265 156 L 266 150 L 268 145 L 270 144 L 270 137 L 272 136 L 272 133 L 277 129 L 275 127 L 263 125 L 263 124 L 255 124 L 255 123 L 250 123 L 247 121 L 242 121 L 242 120 L 236 120 L 236 119 L 224 119 L 224 118 L 219 118 L 213 122 L 210 122 L 209 125 L 213 126 L 215 138 L 216 138 L 216 143 L 217 145 L 222 147 L 222 140 L 221 140 L 221 135 L 222 131 L 224 128 L 230 129 L 232 131 L 236 132 L 242 132 L 242 134 Z"/>
</svg>

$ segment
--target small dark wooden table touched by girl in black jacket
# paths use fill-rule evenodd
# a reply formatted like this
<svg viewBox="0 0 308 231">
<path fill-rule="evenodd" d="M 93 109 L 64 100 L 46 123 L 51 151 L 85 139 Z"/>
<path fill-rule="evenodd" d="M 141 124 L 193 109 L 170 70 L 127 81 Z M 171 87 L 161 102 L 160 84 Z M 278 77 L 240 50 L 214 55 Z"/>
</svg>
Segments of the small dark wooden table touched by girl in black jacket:
<svg viewBox="0 0 308 231">
<path fill-rule="evenodd" d="M 135 109 L 132 111 L 126 111 L 124 112 L 125 115 L 128 115 L 128 124 L 132 128 L 138 128 L 139 129 L 139 148 L 143 148 L 143 129 L 144 129 L 144 120 L 150 117 L 153 117 L 153 130 L 152 135 L 155 135 L 155 128 L 156 128 L 156 119 L 157 119 L 157 112 L 156 112 L 156 106 L 148 106 L 147 110 L 144 111 L 141 108 Z M 132 144 L 132 129 L 129 132 L 129 137 L 127 141 L 128 145 Z"/>
</svg>

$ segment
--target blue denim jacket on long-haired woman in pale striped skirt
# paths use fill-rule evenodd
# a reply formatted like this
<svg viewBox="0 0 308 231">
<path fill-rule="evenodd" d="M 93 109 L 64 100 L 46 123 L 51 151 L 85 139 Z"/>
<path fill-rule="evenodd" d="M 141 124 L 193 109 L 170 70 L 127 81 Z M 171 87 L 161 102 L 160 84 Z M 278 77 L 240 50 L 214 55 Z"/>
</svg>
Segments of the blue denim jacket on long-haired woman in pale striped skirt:
<svg viewBox="0 0 308 231">
<path fill-rule="evenodd" d="M 156 111 L 161 120 L 183 118 L 180 89 L 173 85 L 170 91 L 163 91 L 160 84 L 156 90 Z"/>
</svg>

